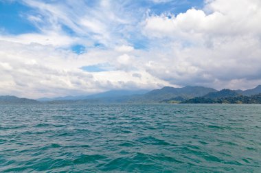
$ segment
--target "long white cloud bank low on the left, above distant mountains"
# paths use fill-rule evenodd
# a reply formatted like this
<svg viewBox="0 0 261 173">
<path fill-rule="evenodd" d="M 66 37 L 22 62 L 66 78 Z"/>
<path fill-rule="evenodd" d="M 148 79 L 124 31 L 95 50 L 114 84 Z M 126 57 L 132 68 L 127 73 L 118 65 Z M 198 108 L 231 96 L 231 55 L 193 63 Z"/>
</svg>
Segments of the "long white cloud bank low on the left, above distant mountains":
<svg viewBox="0 0 261 173">
<path fill-rule="evenodd" d="M 124 65 L 117 71 L 89 73 L 80 69 L 82 65 L 111 62 L 117 56 L 119 63 Z M 132 71 L 124 71 L 127 61 L 126 54 L 115 54 L 115 51 L 93 50 L 77 55 L 52 45 L 0 41 L 1 95 L 33 98 L 88 95 L 110 89 L 152 89 L 169 84 L 146 71 L 140 71 L 144 78 L 133 77 Z"/>
</svg>

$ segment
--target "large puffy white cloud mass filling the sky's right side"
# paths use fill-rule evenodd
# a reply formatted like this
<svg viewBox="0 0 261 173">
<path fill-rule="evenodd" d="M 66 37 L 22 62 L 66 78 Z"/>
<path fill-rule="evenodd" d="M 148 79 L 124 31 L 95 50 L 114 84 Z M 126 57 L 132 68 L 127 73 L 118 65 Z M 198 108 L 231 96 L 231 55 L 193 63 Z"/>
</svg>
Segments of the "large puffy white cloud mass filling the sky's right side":
<svg viewBox="0 0 261 173">
<path fill-rule="evenodd" d="M 231 87 L 235 80 L 260 80 L 258 9 L 261 3 L 256 0 L 216 0 L 207 1 L 203 10 L 148 16 L 144 34 L 168 42 L 163 49 L 168 47 L 169 54 L 166 60 L 148 63 L 147 71 L 175 84 L 218 88 Z"/>
</svg>

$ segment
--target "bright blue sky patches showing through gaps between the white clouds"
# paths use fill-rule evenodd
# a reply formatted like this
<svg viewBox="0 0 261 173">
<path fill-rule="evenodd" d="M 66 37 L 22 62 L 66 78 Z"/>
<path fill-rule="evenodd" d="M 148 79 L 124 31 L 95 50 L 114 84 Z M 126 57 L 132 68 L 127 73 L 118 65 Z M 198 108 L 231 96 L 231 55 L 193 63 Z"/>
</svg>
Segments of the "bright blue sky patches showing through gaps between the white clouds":
<svg viewBox="0 0 261 173">
<path fill-rule="evenodd" d="M 37 1 L 35 1 L 37 2 Z M 38 1 L 42 4 L 48 5 L 58 5 L 64 6 L 64 8 L 70 8 L 70 1 Z M 80 1 L 79 1 L 80 2 Z M 190 8 L 202 8 L 203 1 L 198 0 L 186 0 L 186 1 L 119 1 L 124 4 L 124 10 L 127 10 L 128 17 L 133 16 L 133 23 L 128 25 L 135 25 L 139 23 L 139 18 L 143 18 L 146 13 L 149 14 L 179 14 L 181 12 L 186 12 Z M 86 8 L 96 8 L 99 6 L 99 1 L 81 1 L 82 4 L 86 6 Z M 33 4 L 33 5 L 31 5 Z M 122 7 L 121 7 L 122 8 Z M 101 8 L 98 8 L 102 10 Z M 88 9 L 87 9 L 88 10 Z M 122 10 L 122 9 L 121 9 Z M 49 23 L 49 15 L 54 15 L 51 12 L 43 12 L 43 10 L 39 9 L 32 3 L 32 1 L 0 1 L 0 28 L 4 34 L 28 34 L 28 33 L 41 33 L 42 30 L 50 30 L 52 27 L 52 23 Z M 37 17 L 39 21 L 35 21 L 32 17 Z M 41 19 L 41 21 L 40 21 Z M 56 25 L 59 25 L 60 32 L 64 32 L 69 36 L 78 36 L 83 39 L 92 39 L 91 45 L 81 45 L 81 43 L 74 43 L 71 45 L 71 50 L 81 54 L 85 47 L 87 49 L 91 49 L 93 47 L 106 47 L 104 43 L 100 43 L 98 40 L 93 39 L 93 33 L 79 33 L 75 30 L 71 25 L 65 23 L 64 21 L 56 21 Z M 140 33 L 137 33 L 137 30 L 131 30 L 126 38 L 126 31 L 124 27 L 126 23 L 120 23 L 115 26 L 116 30 L 114 32 L 118 37 L 124 37 L 128 43 L 133 45 L 136 49 L 146 49 L 149 46 L 149 42 L 146 37 L 141 36 Z M 48 26 L 49 25 L 49 26 Z M 77 24 L 76 24 L 77 25 Z M 113 26 L 114 27 L 114 26 Z M 133 26 L 132 26 L 133 27 Z M 118 30 L 124 30 L 122 32 L 118 32 Z M 67 49 L 69 47 L 66 47 Z"/>
</svg>

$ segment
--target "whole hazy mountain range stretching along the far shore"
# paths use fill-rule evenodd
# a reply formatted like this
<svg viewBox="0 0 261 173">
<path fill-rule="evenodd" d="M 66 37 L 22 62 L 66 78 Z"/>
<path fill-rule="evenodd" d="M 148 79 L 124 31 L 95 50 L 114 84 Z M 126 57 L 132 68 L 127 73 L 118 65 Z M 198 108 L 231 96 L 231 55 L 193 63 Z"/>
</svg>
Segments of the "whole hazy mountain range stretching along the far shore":
<svg viewBox="0 0 261 173">
<path fill-rule="evenodd" d="M 163 87 L 162 89 L 147 90 L 114 90 L 93 95 L 65 96 L 54 98 L 40 98 L 32 100 L 27 98 L 19 98 L 15 96 L 0 96 L 0 104 L 39 104 L 39 103 L 93 103 L 93 104 L 108 104 L 108 103 L 216 103 L 216 102 L 236 102 L 250 103 L 246 101 L 251 99 L 252 95 L 261 93 L 261 85 L 254 89 L 230 90 L 216 89 L 207 87 Z M 258 96 L 252 99 L 259 99 Z M 200 101 L 198 101 L 200 100 Z M 230 101 L 229 101 L 230 100 Z M 256 101 L 257 102 L 257 101 Z M 255 103 L 256 103 L 255 102 Z"/>
</svg>

